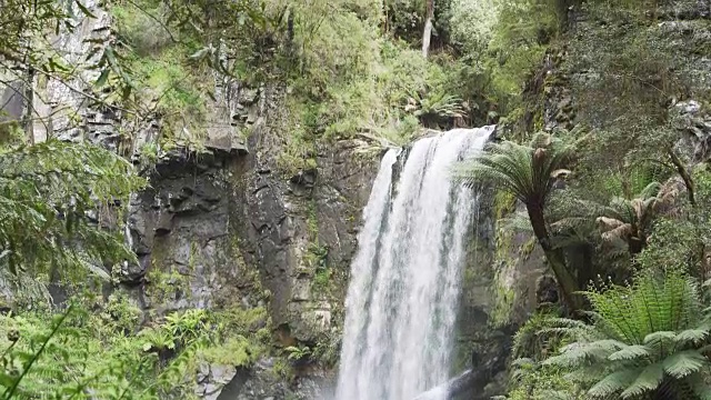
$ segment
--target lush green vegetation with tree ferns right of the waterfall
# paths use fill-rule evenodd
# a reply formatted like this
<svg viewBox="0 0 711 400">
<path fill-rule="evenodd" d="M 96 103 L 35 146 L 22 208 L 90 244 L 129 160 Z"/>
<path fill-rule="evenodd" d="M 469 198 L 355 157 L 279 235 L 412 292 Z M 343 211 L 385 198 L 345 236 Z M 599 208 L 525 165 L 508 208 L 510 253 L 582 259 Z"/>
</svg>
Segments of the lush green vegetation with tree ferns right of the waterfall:
<svg viewBox="0 0 711 400">
<path fill-rule="evenodd" d="M 700 43 L 650 28 L 662 3 L 582 4 L 594 23 L 548 48 L 518 123 L 455 172 L 525 207 L 501 223 L 535 237 L 562 299 L 518 331 L 509 399 L 710 398 L 711 176 L 680 111 L 710 93 L 689 81 Z"/>
</svg>

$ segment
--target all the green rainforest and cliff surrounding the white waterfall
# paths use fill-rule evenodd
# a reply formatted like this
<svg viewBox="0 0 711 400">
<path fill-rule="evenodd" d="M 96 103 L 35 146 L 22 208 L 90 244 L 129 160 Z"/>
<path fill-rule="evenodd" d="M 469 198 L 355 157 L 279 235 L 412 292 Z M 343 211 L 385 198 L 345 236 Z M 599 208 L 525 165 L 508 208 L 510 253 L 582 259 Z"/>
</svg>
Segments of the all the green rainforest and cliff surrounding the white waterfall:
<svg viewBox="0 0 711 400">
<path fill-rule="evenodd" d="M 316 399 L 382 149 L 484 124 L 485 393 L 711 399 L 710 106 L 705 0 L 0 0 L 2 399 Z"/>
</svg>

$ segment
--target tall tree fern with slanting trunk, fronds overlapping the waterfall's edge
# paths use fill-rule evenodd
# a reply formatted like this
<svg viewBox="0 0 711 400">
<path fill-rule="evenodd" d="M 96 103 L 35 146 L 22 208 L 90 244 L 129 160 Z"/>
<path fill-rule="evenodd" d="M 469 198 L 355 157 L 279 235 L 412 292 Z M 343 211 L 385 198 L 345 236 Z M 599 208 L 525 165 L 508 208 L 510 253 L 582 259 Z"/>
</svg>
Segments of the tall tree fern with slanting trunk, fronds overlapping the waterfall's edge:
<svg viewBox="0 0 711 400">
<path fill-rule="evenodd" d="M 539 133 L 528 144 L 511 141 L 492 143 L 487 151 L 459 166 L 455 178 L 470 186 L 489 182 L 510 192 L 525 204 L 529 221 L 570 307 L 580 309 L 580 290 L 569 270 L 562 249 L 555 248 L 545 222 L 545 206 L 557 178 L 569 172 L 574 147 L 548 133 Z"/>
</svg>

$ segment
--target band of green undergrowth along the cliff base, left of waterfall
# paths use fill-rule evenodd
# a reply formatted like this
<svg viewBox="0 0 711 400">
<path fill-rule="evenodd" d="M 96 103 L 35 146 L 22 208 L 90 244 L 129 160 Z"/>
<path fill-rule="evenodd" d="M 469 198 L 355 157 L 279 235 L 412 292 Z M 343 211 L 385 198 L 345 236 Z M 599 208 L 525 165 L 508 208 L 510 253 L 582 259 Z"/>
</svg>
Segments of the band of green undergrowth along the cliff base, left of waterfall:
<svg viewBox="0 0 711 400">
<path fill-rule="evenodd" d="M 249 367 L 270 340 L 264 309 L 186 310 L 131 334 L 126 298 L 102 307 L 0 317 L 2 398 L 190 399 L 200 362 Z"/>
</svg>

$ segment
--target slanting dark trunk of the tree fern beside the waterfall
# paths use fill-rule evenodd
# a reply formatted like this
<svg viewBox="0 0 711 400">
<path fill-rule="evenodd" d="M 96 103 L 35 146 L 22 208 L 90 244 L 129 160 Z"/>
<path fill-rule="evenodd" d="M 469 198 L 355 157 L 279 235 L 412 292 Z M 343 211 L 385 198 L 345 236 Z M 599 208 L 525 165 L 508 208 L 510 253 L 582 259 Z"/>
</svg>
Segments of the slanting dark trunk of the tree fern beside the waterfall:
<svg viewBox="0 0 711 400">
<path fill-rule="evenodd" d="M 579 294 L 573 294 L 580 290 L 580 287 L 575 278 L 568 270 L 568 266 L 565 266 L 562 249 L 554 249 L 551 244 L 548 228 L 545 227 L 545 219 L 543 218 L 543 208 L 538 204 L 527 204 L 527 211 L 531 227 L 533 228 L 533 233 L 543 249 L 543 253 L 553 270 L 553 274 L 555 274 L 562 298 L 573 311 L 581 309 L 582 299 L 580 299 Z"/>
</svg>

